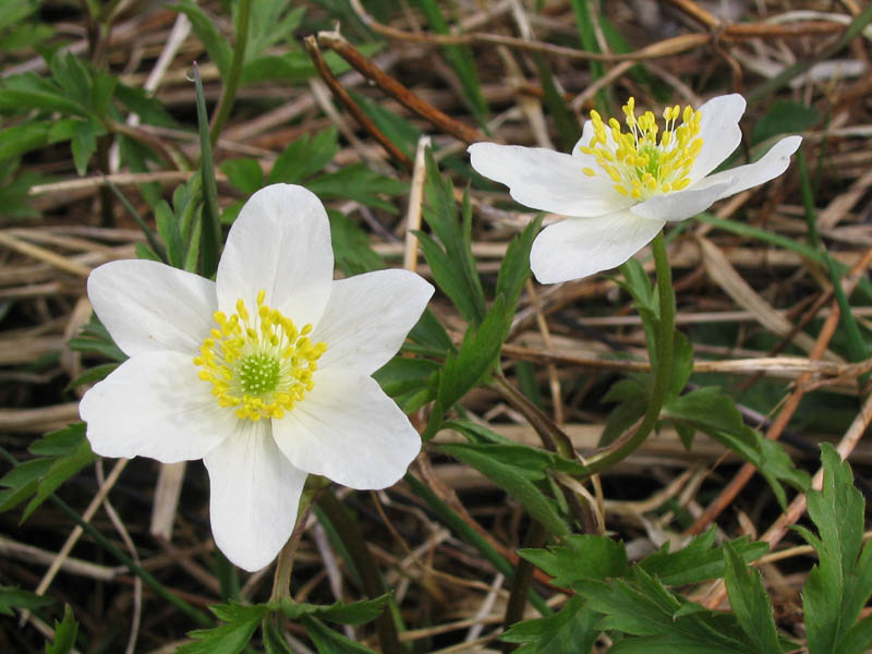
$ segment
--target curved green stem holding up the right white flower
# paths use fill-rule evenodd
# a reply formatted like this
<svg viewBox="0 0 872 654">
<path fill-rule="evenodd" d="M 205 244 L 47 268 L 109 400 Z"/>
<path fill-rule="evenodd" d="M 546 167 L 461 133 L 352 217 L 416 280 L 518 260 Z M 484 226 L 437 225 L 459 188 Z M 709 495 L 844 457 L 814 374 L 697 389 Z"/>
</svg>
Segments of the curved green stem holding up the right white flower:
<svg viewBox="0 0 872 654">
<path fill-rule="evenodd" d="M 661 409 L 669 389 L 673 374 L 673 348 L 675 344 L 675 291 L 673 290 L 673 271 L 666 255 L 666 242 L 663 232 L 659 232 L 651 242 L 654 253 L 654 263 L 657 269 L 657 292 L 661 301 L 661 322 L 656 332 L 657 360 L 652 361 L 655 366 L 654 386 L 647 409 L 637 429 L 626 439 L 620 439 L 618 446 L 607 452 L 594 455 L 588 460 L 591 474 L 595 474 L 623 461 L 644 443 L 647 435 L 659 420 Z"/>
</svg>

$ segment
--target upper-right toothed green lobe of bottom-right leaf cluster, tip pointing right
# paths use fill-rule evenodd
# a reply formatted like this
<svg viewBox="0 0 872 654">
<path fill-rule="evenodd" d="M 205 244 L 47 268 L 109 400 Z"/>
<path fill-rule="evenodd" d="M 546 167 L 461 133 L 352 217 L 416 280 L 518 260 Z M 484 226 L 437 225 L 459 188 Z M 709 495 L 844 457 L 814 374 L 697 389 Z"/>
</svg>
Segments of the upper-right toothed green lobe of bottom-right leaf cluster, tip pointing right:
<svg viewBox="0 0 872 654">
<path fill-rule="evenodd" d="M 686 585 L 718 579 L 724 577 L 725 554 L 722 546 L 714 546 L 716 537 L 717 532 L 712 526 L 677 552 L 670 552 L 667 541 L 659 549 L 637 565 L 669 585 Z M 729 544 L 744 564 L 759 559 L 768 550 L 765 543 L 751 541 L 748 536 L 736 538 Z"/>
</svg>

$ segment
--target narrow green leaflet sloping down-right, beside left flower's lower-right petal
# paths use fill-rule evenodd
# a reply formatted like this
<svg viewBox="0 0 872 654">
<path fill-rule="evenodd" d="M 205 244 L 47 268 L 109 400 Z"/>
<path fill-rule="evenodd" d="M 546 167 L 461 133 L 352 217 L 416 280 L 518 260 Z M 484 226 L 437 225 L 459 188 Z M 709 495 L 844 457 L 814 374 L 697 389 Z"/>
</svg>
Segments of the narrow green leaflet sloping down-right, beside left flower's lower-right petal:
<svg viewBox="0 0 872 654">
<path fill-rule="evenodd" d="M 516 468 L 489 457 L 486 452 L 488 446 L 440 444 L 438 447 L 459 461 L 474 468 L 500 488 L 504 488 L 550 533 L 558 536 L 567 536 L 570 533 L 566 521 L 554 507 L 554 500 L 546 497 L 533 482 Z"/>
</svg>

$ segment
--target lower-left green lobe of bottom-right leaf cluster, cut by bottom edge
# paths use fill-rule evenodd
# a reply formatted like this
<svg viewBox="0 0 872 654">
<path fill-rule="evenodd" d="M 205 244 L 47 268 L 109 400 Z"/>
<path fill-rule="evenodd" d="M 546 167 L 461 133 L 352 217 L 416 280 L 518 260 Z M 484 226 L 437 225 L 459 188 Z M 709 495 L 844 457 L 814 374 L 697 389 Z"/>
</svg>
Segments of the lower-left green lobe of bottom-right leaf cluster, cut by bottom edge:
<svg viewBox="0 0 872 654">
<path fill-rule="evenodd" d="M 509 643 L 528 643 L 516 654 L 588 654 L 596 642 L 598 616 L 581 597 L 570 597 L 560 613 L 517 622 L 500 637 Z"/>
</svg>

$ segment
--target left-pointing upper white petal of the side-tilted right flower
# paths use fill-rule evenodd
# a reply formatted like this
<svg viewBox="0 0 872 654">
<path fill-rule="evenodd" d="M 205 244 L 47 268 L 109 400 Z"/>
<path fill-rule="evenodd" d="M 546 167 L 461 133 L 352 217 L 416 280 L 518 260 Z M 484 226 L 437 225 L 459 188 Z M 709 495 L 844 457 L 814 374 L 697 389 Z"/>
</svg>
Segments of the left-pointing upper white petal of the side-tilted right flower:
<svg viewBox="0 0 872 654">
<path fill-rule="evenodd" d="M 480 174 L 506 184 L 517 202 L 534 209 L 598 216 L 632 204 L 598 169 L 596 177 L 585 175 L 584 164 L 572 155 L 495 143 L 473 143 L 469 153 Z"/>
</svg>

